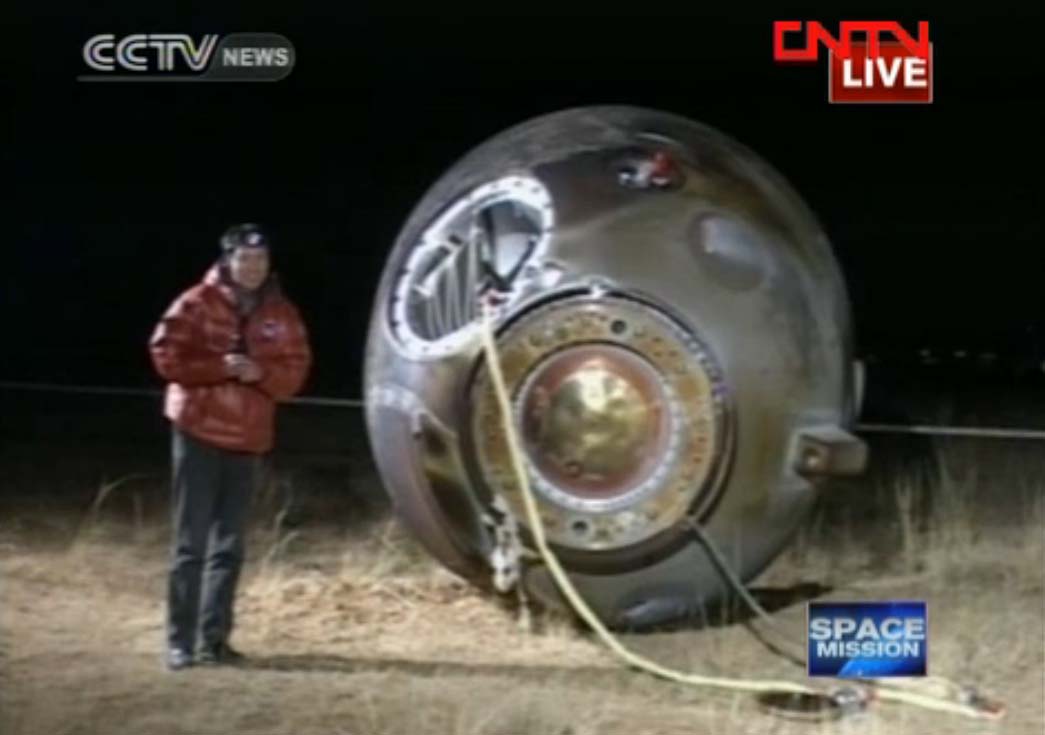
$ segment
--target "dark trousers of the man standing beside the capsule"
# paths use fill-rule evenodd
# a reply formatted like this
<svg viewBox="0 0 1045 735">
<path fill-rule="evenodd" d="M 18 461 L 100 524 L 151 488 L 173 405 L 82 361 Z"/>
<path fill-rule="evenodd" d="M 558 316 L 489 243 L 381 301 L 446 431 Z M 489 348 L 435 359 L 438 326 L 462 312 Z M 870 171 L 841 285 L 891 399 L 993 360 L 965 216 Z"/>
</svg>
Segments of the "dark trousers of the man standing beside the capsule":
<svg viewBox="0 0 1045 735">
<path fill-rule="evenodd" d="M 232 633 L 243 532 L 260 457 L 211 446 L 173 429 L 173 544 L 167 641 L 192 651 Z"/>
</svg>

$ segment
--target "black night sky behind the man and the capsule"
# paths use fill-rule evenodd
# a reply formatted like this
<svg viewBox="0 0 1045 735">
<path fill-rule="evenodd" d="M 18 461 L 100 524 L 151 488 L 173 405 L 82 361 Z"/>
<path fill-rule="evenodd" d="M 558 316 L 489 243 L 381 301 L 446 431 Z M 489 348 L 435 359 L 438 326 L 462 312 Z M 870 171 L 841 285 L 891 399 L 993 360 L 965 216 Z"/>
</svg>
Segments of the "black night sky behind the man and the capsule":
<svg viewBox="0 0 1045 735">
<path fill-rule="evenodd" d="M 826 61 L 773 63 L 774 19 L 837 15 L 699 15 L 706 4 L 16 26 L 0 381 L 158 386 L 145 350 L 157 318 L 215 258 L 226 226 L 256 221 L 312 332 L 307 392 L 356 396 L 376 279 L 427 186 L 501 130 L 589 104 L 693 117 L 781 170 L 836 247 L 862 354 L 1045 357 L 1040 5 L 847 14 L 931 23 L 935 101 L 890 107 L 829 105 Z M 75 79 L 95 33 L 242 30 L 287 37 L 291 76 Z"/>
</svg>

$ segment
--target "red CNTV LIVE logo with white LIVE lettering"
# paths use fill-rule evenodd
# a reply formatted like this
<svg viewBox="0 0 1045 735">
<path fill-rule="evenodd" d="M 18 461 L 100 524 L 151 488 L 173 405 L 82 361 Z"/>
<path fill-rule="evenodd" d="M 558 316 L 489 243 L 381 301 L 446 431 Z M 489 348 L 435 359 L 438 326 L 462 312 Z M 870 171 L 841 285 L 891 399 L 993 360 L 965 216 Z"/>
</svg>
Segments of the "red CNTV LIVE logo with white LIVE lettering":
<svg viewBox="0 0 1045 735">
<path fill-rule="evenodd" d="M 831 102 L 932 101 L 928 21 L 919 21 L 916 36 L 895 21 L 842 21 L 837 37 L 816 21 L 773 22 L 773 60 L 777 63 L 816 62 L 820 46 L 831 54 Z"/>
</svg>

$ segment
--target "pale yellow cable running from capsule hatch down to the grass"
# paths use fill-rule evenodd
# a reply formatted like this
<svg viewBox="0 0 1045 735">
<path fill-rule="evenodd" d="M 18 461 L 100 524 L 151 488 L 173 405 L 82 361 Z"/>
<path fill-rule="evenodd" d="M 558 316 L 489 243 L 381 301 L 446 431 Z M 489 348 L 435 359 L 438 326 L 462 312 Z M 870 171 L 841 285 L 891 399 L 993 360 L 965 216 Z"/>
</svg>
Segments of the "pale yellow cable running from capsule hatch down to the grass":
<svg viewBox="0 0 1045 735">
<path fill-rule="evenodd" d="M 678 682 L 680 684 L 750 692 L 792 692 L 796 694 L 828 695 L 827 692 L 820 689 L 808 685 L 796 684 L 794 682 L 732 679 L 725 676 L 702 676 L 700 674 L 677 671 L 675 669 L 661 666 L 655 661 L 651 661 L 650 659 L 629 650 L 606 628 L 605 625 L 603 625 L 599 617 L 591 611 L 590 607 L 588 607 L 587 603 L 584 602 L 583 598 L 577 592 L 573 581 L 559 565 L 558 557 L 556 557 L 555 553 L 548 546 L 548 542 L 544 537 L 544 526 L 541 523 L 540 513 L 537 511 L 537 504 L 533 498 L 533 491 L 530 488 L 530 476 L 526 470 L 526 466 L 522 461 L 522 450 L 512 421 L 511 401 L 509 399 L 508 388 L 505 385 L 504 373 L 501 370 L 500 354 L 493 337 L 493 325 L 490 320 L 488 306 L 486 304 L 484 304 L 482 308 L 482 328 L 480 331 L 483 339 L 483 352 L 486 358 L 487 367 L 490 371 L 490 377 L 493 382 L 493 391 L 496 394 L 497 405 L 501 409 L 501 419 L 505 430 L 505 438 L 508 442 L 508 451 L 511 456 L 512 468 L 515 472 L 519 488 L 522 491 L 522 502 L 526 506 L 527 520 L 530 525 L 530 531 L 533 534 L 534 544 L 537 547 L 537 552 L 548 566 L 548 569 L 552 573 L 552 577 L 563 597 L 566 598 L 570 605 L 574 608 L 574 612 L 576 612 L 577 615 L 585 623 L 587 623 L 599 639 L 602 640 L 602 642 L 605 643 L 611 651 L 629 665 L 637 669 L 648 671 L 656 676 L 660 676 L 661 679 Z M 926 709 L 954 712 L 977 718 L 997 719 L 1001 716 L 1001 712 L 988 713 L 968 705 L 960 705 L 937 697 L 914 694 L 905 691 L 882 690 L 876 692 L 876 696 L 879 699 L 904 702 L 918 707 L 924 707 Z"/>
</svg>

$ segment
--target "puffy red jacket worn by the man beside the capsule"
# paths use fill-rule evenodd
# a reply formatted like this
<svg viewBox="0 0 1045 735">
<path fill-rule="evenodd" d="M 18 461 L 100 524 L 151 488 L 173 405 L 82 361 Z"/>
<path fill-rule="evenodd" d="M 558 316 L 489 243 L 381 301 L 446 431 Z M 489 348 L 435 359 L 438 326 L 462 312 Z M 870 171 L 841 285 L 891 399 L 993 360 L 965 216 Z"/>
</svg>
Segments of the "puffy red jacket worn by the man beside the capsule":
<svg viewBox="0 0 1045 735">
<path fill-rule="evenodd" d="M 261 367 L 258 383 L 226 375 L 225 355 L 237 344 Z M 255 454 L 272 449 L 276 403 L 301 390 L 311 365 L 305 326 L 275 279 L 262 286 L 240 335 L 235 293 L 218 266 L 175 300 L 153 332 L 149 351 L 168 381 L 167 418 L 202 441 Z"/>
</svg>

